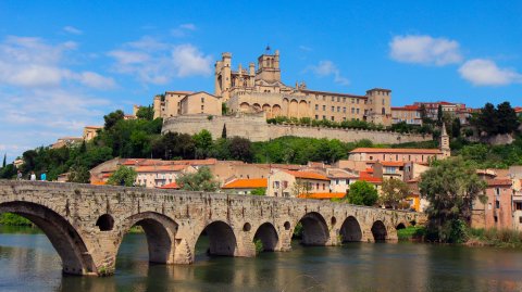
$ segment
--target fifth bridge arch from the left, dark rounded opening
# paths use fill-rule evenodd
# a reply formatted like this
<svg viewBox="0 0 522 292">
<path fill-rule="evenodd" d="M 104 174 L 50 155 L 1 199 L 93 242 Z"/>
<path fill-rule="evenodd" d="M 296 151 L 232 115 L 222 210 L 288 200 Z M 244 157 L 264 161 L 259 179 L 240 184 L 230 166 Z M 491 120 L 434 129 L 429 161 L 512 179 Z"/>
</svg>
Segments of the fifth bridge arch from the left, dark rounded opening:
<svg viewBox="0 0 522 292">
<path fill-rule="evenodd" d="M 301 244 L 326 245 L 330 240 L 328 226 L 321 214 L 316 212 L 307 213 L 299 223 L 302 226 Z"/>
</svg>

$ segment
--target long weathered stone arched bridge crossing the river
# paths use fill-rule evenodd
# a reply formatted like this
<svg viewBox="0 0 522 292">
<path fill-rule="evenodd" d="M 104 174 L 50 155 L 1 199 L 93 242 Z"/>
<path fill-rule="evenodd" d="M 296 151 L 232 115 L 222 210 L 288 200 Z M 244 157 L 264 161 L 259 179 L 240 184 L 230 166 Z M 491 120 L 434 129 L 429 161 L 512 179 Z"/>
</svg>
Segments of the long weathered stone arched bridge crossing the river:
<svg viewBox="0 0 522 292">
<path fill-rule="evenodd" d="M 191 264 L 206 231 L 214 255 L 256 256 L 290 251 L 294 228 L 304 245 L 396 241 L 397 228 L 425 221 L 412 212 L 328 201 L 170 191 L 63 182 L 0 180 L 0 213 L 22 215 L 49 238 L 63 272 L 112 275 L 130 227 L 145 230 L 149 261 Z"/>
</svg>

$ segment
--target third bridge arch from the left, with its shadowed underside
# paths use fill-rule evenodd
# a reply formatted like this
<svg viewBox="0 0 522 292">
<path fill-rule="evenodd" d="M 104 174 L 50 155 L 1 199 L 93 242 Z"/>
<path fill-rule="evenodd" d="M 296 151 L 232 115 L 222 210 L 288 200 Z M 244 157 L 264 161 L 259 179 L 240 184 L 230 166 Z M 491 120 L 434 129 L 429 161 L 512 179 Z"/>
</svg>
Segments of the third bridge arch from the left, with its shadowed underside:
<svg viewBox="0 0 522 292">
<path fill-rule="evenodd" d="M 196 251 L 196 244 L 203 233 L 209 237 L 209 250 L 207 252 L 210 255 L 234 256 L 236 254 L 236 234 L 225 221 L 215 220 L 208 224 L 194 242 L 192 251 Z"/>
</svg>

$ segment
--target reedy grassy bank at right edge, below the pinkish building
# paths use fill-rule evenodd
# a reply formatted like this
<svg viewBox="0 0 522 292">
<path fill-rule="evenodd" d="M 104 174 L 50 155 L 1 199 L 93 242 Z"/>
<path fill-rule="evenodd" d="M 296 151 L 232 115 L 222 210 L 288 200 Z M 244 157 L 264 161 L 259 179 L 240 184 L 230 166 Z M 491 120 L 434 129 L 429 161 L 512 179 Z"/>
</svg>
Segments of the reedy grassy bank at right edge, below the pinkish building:
<svg viewBox="0 0 522 292">
<path fill-rule="evenodd" d="M 467 245 L 522 247 L 522 232 L 511 229 L 474 229 L 468 230 Z"/>
</svg>

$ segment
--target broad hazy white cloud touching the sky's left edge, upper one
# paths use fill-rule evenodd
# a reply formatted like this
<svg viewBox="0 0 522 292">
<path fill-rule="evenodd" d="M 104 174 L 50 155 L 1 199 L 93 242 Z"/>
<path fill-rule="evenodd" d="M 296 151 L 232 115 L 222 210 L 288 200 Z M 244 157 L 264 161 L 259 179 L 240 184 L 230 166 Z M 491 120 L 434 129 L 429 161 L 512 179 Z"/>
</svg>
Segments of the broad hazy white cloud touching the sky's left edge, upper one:
<svg viewBox="0 0 522 292">
<path fill-rule="evenodd" d="M 76 49 L 74 41 L 52 46 L 40 38 L 7 37 L 0 42 L 0 85 L 58 88 L 63 81 L 78 81 L 98 89 L 113 88 L 112 78 L 74 72 L 63 65 L 64 55 Z"/>
</svg>

